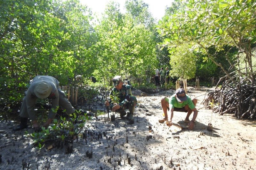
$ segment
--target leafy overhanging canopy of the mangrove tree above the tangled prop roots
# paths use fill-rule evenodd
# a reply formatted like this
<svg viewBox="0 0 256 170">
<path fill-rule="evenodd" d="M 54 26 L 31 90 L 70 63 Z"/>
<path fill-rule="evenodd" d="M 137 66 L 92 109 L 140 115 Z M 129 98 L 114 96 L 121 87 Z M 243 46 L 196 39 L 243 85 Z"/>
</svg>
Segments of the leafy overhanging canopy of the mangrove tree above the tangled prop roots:
<svg viewBox="0 0 256 170">
<path fill-rule="evenodd" d="M 162 45 L 170 50 L 187 47 L 191 53 L 204 55 L 205 61 L 209 58 L 229 78 L 233 68 L 254 84 L 255 7 L 255 1 L 251 0 L 189 0 L 183 1 L 179 8 L 174 3 L 173 10 L 159 21 L 158 31 L 165 38 Z M 233 56 L 235 59 L 231 57 L 234 54 L 237 54 Z M 240 68 L 243 61 L 247 64 L 245 69 Z"/>
</svg>

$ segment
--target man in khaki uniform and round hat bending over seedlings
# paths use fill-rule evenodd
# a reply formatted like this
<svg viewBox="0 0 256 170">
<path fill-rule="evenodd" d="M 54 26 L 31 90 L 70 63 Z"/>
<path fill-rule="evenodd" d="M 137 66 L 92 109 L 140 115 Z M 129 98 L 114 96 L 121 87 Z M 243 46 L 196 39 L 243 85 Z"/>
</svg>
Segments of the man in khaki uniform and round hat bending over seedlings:
<svg viewBox="0 0 256 170">
<path fill-rule="evenodd" d="M 25 97 L 20 108 L 20 125 L 14 128 L 14 131 L 25 129 L 28 127 L 28 118 L 32 120 L 35 131 L 40 130 L 40 126 L 36 121 L 35 105 L 37 99 L 48 98 L 52 100 L 52 108 L 56 109 L 60 106 L 66 110 L 67 114 L 75 112 L 75 108 L 68 101 L 67 96 L 59 87 L 59 81 L 51 76 L 36 76 L 30 83 L 28 90 L 25 92 Z M 56 113 L 50 109 L 48 114 L 48 120 L 44 123 L 44 127 L 47 128 L 52 119 L 56 116 Z"/>
</svg>

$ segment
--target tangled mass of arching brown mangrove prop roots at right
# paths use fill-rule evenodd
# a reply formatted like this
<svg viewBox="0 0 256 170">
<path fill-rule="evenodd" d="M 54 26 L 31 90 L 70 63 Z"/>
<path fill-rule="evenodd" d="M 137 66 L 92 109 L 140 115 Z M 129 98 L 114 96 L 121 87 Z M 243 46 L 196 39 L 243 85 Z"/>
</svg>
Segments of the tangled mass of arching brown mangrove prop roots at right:
<svg viewBox="0 0 256 170">
<path fill-rule="evenodd" d="M 255 84 L 237 76 L 235 82 L 225 80 L 220 90 L 208 92 L 203 100 L 204 107 L 223 115 L 233 113 L 238 119 L 256 119 Z"/>
</svg>

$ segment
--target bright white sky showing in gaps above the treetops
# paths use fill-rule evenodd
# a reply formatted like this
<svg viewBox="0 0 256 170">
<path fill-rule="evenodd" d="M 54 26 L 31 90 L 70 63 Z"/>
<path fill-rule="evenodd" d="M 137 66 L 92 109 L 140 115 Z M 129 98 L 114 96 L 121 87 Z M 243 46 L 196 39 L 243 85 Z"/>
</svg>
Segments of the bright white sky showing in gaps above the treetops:
<svg viewBox="0 0 256 170">
<path fill-rule="evenodd" d="M 81 4 L 86 4 L 91 8 L 93 14 L 99 17 L 110 1 L 118 2 L 120 4 L 120 11 L 125 13 L 125 0 L 80 0 Z M 159 20 L 164 16 L 165 7 L 169 7 L 173 0 L 143 0 L 143 2 L 148 4 L 149 11 L 152 13 L 153 17 Z"/>
</svg>

